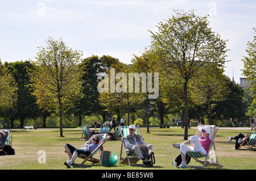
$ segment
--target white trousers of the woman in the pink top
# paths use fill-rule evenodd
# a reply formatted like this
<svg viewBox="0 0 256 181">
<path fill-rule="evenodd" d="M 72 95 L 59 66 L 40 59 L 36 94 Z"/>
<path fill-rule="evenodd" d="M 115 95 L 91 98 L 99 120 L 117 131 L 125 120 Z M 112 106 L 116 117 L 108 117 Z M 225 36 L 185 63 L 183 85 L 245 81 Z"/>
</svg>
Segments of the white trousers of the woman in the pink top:
<svg viewBox="0 0 256 181">
<path fill-rule="evenodd" d="M 201 151 L 202 153 L 207 154 L 207 151 L 205 151 L 205 149 L 201 146 L 199 137 L 196 135 L 190 137 L 190 143 L 193 144 L 193 146 L 181 144 L 180 152 L 186 154 L 187 151 Z"/>
</svg>

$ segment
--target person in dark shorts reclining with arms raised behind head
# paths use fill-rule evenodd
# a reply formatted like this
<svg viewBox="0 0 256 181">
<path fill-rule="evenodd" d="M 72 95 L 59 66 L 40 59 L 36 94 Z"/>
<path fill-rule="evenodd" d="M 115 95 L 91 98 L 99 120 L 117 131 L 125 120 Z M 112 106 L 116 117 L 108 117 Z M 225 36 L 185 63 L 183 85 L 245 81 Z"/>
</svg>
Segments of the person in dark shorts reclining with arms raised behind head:
<svg viewBox="0 0 256 181">
<path fill-rule="evenodd" d="M 75 163 L 75 159 L 77 158 L 78 154 L 85 154 L 89 156 L 92 153 L 92 151 L 94 151 L 98 147 L 98 144 L 100 144 L 99 136 L 102 136 L 102 134 L 94 134 L 92 138 L 88 141 L 88 144 L 84 144 L 80 149 L 77 149 L 70 144 L 65 144 L 64 148 L 68 154 L 69 159 L 67 162 L 64 162 L 64 165 L 70 168 L 71 165 Z M 107 134 L 104 134 L 104 137 L 101 141 L 105 141 L 106 136 Z"/>
</svg>

